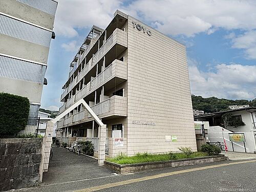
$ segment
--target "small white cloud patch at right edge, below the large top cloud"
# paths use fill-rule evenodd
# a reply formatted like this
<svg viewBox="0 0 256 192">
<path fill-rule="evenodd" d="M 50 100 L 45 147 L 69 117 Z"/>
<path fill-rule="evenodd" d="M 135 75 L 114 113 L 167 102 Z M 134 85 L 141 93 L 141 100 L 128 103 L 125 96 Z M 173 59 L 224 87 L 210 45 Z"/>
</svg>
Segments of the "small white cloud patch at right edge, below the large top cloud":
<svg viewBox="0 0 256 192">
<path fill-rule="evenodd" d="M 256 59 L 256 31 L 248 31 L 232 38 L 232 48 L 243 49 L 245 57 Z"/>
</svg>

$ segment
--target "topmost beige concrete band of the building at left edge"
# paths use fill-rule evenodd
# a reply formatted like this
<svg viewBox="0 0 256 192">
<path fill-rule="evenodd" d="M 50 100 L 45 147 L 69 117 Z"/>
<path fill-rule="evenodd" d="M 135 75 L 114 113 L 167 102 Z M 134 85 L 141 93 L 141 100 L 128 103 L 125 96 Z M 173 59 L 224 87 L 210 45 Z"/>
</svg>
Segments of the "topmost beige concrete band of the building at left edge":
<svg viewBox="0 0 256 192">
<path fill-rule="evenodd" d="M 0 12 L 27 20 L 30 23 L 53 29 L 54 15 L 35 9 L 16 0 L 0 1 Z"/>
</svg>

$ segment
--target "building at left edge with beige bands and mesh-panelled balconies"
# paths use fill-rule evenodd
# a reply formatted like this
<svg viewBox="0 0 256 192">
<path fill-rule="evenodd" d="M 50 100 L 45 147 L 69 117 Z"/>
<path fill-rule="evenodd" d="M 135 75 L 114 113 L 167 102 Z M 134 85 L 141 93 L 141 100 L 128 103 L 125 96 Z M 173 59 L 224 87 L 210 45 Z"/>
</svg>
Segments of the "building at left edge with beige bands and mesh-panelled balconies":
<svg viewBox="0 0 256 192">
<path fill-rule="evenodd" d="M 0 92 L 29 99 L 23 133 L 36 130 L 56 8 L 53 0 L 0 1 Z"/>
</svg>

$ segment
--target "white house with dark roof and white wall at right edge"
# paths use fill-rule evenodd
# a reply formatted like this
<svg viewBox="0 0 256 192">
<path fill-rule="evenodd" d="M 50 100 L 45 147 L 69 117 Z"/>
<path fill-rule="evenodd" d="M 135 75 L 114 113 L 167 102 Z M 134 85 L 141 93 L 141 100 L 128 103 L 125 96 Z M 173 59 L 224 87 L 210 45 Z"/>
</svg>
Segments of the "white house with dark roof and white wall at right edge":
<svg viewBox="0 0 256 192">
<path fill-rule="evenodd" d="M 229 126 L 222 120 L 222 115 L 231 114 L 233 120 L 244 122 L 237 127 Z M 211 113 L 195 117 L 198 121 L 209 121 L 208 136 L 210 142 L 223 142 L 222 132 L 226 140 L 228 151 L 256 153 L 256 107 L 247 107 Z M 244 135 L 245 143 L 232 141 L 230 136 Z M 232 142 L 231 142 L 232 141 Z"/>
</svg>

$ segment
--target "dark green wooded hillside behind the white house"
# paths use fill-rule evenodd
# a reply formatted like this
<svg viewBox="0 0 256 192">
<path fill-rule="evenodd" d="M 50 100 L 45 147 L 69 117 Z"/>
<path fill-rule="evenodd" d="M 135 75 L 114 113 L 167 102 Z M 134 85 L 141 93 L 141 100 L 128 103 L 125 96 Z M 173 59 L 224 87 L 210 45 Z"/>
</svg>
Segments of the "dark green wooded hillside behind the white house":
<svg viewBox="0 0 256 192">
<path fill-rule="evenodd" d="M 256 98 L 253 100 L 231 100 L 219 99 L 217 97 L 203 98 L 201 96 L 191 95 L 194 110 L 202 110 L 205 113 L 214 113 L 229 110 L 229 105 L 244 105 L 256 106 Z"/>
</svg>

